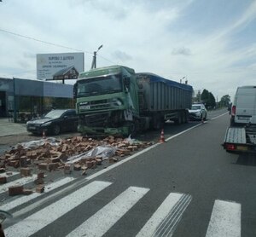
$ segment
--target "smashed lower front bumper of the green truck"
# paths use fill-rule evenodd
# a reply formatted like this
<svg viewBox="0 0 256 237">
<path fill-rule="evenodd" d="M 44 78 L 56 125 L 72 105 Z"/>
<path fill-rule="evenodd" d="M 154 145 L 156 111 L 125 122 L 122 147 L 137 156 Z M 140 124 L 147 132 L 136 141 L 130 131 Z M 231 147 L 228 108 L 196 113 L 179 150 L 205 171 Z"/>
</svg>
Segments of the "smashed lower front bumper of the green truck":
<svg viewBox="0 0 256 237">
<path fill-rule="evenodd" d="M 129 127 L 104 128 L 104 127 L 88 127 L 79 125 L 78 130 L 83 135 L 93 136 L 129 136 Z"/>
</svg>

